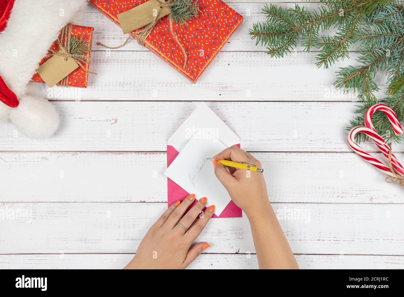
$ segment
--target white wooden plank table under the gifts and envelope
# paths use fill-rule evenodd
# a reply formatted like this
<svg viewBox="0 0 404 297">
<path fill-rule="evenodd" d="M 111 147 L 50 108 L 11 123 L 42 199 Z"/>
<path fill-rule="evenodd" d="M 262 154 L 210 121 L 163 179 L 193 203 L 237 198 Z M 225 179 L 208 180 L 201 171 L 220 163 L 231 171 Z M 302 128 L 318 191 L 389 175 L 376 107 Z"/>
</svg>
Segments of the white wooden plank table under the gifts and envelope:
<svg viewBox="0 0 404 297">
<path fill-rule="evenodd" d="M 345 126 L 357 103 L 328 91 L 357 54 L 328 70 L 301 48 L 271 59 L 247 35 L 265 20 L 263 3 L 227 2 L 244 23 L 196 84 L 135 41 L 119 51 L 97 46 L 126 36 L 93 7 L 75 21 L 95 28 L 98 75 L 61 94 L 29 83 L 61 114 L 53 137 L 0 129 L 1 209 L 26 212 L 0 220 L 0 268 L 122 268 L 166 209 L 166 141 L 199 101 L 265 164 L 301 268 L 404 268 L 403 189 L 351 152 Z M 404 145 L 395 152 L 404 160 Z M 281 216 L 288 211 L 309 217 Z M 212 219 L 199 239 L 212 246 L 190 268 L 258 267 L 245 217 Z"/>
</svg>

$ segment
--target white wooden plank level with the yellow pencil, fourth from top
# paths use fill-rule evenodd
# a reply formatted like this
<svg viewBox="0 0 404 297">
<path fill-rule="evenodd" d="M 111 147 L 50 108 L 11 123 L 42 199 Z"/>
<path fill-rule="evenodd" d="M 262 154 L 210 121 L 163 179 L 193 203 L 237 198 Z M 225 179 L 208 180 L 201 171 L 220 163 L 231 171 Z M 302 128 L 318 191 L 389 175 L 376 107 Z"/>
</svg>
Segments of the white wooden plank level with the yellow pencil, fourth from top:
<svg viewBox="0 0 404 297">
<path fill-rule="evenodd" d="M 356 154 L 253 154 L 272 202 L 404 203 L 402 188 Z M 0 164 L 0 202 L 167 201 L 165 153 L 5 152 Z"/>
</svg>

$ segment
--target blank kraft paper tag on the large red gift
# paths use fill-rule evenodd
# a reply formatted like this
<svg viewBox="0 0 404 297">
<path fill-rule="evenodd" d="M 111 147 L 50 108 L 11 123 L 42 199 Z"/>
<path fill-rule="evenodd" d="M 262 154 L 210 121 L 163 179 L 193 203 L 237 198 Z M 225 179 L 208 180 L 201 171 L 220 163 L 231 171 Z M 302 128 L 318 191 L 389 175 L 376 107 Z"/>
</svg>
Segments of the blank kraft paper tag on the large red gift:
<svg viewBox="0 0 404 297">
<path fill-rule="evenodd" d="M 159 0 L 165 3 L 165 0 Z M 135 31 L 149 23 L 154 21 L 154 16 L 157 13 L 157 8 L 160 6 L 156 1 L 149 0 L 143 4 L 136 6 L 124 13 L 117 15 L 118 21 L 120 23 L 122 32 L 124 34 Z M 168 7 L 163 7 L 160 9 L 157 19 L 165 17 L 170 13 Z"/>
</svg>

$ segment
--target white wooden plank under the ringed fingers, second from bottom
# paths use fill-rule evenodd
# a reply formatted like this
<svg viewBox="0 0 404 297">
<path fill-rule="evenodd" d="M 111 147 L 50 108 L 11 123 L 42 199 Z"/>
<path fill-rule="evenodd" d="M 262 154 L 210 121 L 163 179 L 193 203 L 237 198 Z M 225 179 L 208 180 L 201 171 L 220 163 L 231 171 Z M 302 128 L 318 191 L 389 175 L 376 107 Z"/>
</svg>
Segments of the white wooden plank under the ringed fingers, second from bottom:
<svg viewBox="0 0 404 297">
<path fill-rule="evenodd" d="M 208 202 L 209 203 L 209 202 Z M 3 203 L 0 253 L 135 253 L 165 203 Z M 404 204 L 274 204 L 297 254 L 403 255 Z M 13 217 L 11 213 L 19 213 Z M 264 226 L 265 227 L 265 226 Z M 212 219 L 209 253 L 254 253 L 245 217 Z"/>
</svg>

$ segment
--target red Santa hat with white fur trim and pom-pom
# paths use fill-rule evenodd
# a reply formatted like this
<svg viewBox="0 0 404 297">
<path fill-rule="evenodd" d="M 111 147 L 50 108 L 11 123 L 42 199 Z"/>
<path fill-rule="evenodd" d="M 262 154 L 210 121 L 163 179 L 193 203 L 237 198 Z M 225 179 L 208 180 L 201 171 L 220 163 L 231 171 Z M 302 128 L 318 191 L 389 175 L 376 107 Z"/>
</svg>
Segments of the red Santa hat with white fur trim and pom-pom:
<svg viewBox="0 0 404 297">
<path fill-rule="evenodd" d="M 55 133 L 55 107 L 27 94 L 27 84 L 60 29 L 84 5 L 86 0 L 0 1 L 0 122 L 13 122 L 31 138 Z"/>
</svg>

